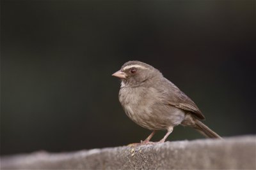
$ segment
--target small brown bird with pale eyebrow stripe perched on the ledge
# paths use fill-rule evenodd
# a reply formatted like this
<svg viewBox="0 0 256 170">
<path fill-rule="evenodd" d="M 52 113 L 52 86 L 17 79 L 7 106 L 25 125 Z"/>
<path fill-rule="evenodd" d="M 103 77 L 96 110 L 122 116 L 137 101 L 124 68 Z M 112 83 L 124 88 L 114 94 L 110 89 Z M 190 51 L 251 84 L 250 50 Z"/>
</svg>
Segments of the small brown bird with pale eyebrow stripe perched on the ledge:
<svg viewBox="0 0 256 170">
<path fill-rule="evenodd" d="M 204 115 L 196 104 L 154 67 L 140 61 L 126 62 L 112 74 L 122 80 L 119 101 L 126 115 L 136 124 L 153 132 L 141 144 L 148 144 L 157 130 L 167 130 L 163 143 L 173 127 L 193 127 L 208 138 L 221 138 L 204 125 Z"/>
</svg>

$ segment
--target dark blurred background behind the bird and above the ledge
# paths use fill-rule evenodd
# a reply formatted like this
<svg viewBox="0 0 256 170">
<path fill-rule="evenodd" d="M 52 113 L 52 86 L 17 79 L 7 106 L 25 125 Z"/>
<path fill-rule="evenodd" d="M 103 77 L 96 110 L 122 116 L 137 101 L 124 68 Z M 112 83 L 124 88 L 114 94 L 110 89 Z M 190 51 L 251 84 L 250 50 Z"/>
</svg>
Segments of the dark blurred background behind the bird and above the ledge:
<svg viewBox="0 0 256 170">
<path fill-rule="evenodd" d="M 128 60 L 159 69 L 221 136 L 255 134 L 255 20 L 255 1 L 1 0 L 1 155 L 145 139 L 111 76 Z M 179 126 L 168 140 L 198 138 Z"/>
</svg>

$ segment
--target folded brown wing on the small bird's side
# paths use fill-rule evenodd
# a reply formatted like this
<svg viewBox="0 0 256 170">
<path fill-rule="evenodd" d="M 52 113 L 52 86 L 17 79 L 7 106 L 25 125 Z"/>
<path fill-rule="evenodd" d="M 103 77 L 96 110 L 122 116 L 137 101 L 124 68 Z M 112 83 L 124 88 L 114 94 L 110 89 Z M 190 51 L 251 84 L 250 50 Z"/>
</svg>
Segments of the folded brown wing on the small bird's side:
<svg viewBox="0 0 256 170">
<path fill-rule="evenodd" d="M 167 79 L 166 79 L 167 80 Z M 176 87 L 172 82 L 167 80 L 168 82 L 168 89 L 164 91 L 164 101 L 167 101 L 167 104 L 180 108 L 182 110 L 191 111 L 196 117 L 200 119 L 204 119 L 204 115 L 198 109 L 196 104 L 184 94 L 178 87 Z M 167 90 L 167 92 L 166 92 Z"/>
</svg>

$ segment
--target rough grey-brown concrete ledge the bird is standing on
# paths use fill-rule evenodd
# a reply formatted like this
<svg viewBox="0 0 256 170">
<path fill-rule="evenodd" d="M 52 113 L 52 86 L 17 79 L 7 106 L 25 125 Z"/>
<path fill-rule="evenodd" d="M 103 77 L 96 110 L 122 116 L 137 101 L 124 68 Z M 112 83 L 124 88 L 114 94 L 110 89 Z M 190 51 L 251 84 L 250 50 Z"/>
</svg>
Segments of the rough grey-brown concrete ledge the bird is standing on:
<svg viewBox="0 0 256 170">
<path fill-rule="evenodd" d="M 256 136 L 1 157 L 1 169 L 256 169 Z"/>
</svg>

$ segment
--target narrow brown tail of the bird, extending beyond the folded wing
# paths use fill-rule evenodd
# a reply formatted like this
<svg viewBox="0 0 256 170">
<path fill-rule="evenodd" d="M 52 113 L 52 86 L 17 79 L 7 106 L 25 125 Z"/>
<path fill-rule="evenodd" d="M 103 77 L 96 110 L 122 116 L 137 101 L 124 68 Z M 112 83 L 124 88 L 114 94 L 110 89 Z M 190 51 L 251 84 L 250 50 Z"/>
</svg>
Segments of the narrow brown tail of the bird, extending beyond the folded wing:
<svg viewBox="0 0 256 170">
<path fill-rule="evenodd" d="M 195 129 L 198 130 L 205 137 L 222 139 L 220 135 L 216 134 L 216 132 L 212 131 L 209 127 L 207 127 L 207 125 L 200 122 L 200 120 L 195 118 L 194 121 L 195 121 Z"/>
</svg>

